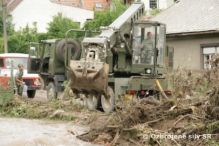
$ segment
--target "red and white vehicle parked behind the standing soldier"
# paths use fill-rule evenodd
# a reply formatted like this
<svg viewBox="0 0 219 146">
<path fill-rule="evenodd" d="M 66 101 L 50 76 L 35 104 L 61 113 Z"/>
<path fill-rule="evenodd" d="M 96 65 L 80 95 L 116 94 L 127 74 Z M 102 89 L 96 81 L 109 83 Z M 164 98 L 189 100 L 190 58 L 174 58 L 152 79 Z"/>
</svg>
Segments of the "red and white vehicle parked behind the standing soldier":
<svg viewBox="0 0 219 146">
<path fill-rule="evenodd" d="M 28 54 L 3 53 L 0 54 L 0 86 L 9 88 L 11 75 L 15 76 L 18 71 L 18 64 L 24 66 L 23 81 L 27 86 L 27 96 L 34 98 L 36 90 L 40 89 L 40 77 L 38 74 L 27 72 Z"/>
</svg>

